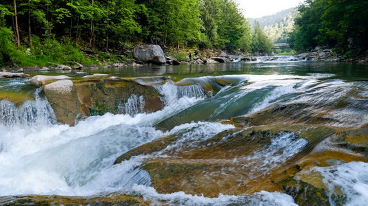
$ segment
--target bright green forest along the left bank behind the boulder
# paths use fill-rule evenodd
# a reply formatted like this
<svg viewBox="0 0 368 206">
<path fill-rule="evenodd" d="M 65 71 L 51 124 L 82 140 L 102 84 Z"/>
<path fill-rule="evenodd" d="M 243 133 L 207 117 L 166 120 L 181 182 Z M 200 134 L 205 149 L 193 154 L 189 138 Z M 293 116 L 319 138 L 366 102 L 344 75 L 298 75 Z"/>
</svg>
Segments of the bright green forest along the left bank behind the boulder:
<svg viewBox="0 0 368 206">
<path fill-rule="evenodd" d="M 0 4 L 0 66 L 74 60 L 92 64 L 81 48 L 114 54 L 139 44 L 164 49 L 270 52 L 234 0 L 13 0 Z"/>
</svg>

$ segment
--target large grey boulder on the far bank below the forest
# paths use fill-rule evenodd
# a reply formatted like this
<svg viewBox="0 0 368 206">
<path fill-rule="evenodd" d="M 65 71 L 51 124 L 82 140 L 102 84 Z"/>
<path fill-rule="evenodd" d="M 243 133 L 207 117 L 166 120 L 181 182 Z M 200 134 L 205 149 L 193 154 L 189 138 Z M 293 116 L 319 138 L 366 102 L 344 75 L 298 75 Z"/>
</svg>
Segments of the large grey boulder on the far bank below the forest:
<svg viewBox="0 0 368 206">
<path fill-rule="evenodd" d="M 142 45 L 134 48 L 133 58 L 139 61 L 163 65 L 166 62 L 165 54 L 159 45 Z"/>
</svg>

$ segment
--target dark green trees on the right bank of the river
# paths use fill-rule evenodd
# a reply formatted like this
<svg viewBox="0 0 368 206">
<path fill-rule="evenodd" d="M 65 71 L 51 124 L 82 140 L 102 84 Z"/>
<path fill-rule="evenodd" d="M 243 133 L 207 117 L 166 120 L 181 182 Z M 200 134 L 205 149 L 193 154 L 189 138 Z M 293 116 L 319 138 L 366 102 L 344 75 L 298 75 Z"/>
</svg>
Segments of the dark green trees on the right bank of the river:
<svg viewBox="0 0 368 206">
<path fill-rule="evenodd" d="M 367 55 L 368 1 L 306 0 L 298 12 L 288 39 L 298 52 L 319 46 L 347 56 Z"/>
</svg>

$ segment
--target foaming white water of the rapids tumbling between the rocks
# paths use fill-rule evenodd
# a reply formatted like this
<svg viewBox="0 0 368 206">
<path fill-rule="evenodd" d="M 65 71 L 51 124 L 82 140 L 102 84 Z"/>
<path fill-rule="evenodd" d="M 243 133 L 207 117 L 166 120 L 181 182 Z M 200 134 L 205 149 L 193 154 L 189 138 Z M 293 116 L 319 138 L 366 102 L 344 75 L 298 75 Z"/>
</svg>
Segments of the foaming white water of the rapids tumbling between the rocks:
<svg viewBox="0 0 368 206">
<path fill-rule="evenodd" d="M 187 141 L 191 141 L 191 146 L 195 147 L 196 142 L 205 141 L 218 133 L 234 128 L 233 125 L 218 123 L 218 119 L 260 111 L 275 102 L 284 100 L 285 96 L 303 94 L 310 87 L 322 89 L 331 87 L 331 85 L 320 84 L 320 79 L 330 76 L 329 74 L 221 76 L 216 78 L 222 78 L 231 84 L 221 87 L 217 93 L 205 91 L 201 87 L 204 79 L 214 80 L 212 77 L 187 80 L 194 81 L 196 84 L 181 87 L 175 82 L 167 81 L 165 84 L 154 86 L 165 102 L 165 107 L 161 111 L 144 113 L 143 98 L 132 95 L 119 108 L 126 113 L 125 115 L 106 113 L 102 116 L 83 119 L 75 126 L 57 124 L 50 104 L 40 94 L 41 89 L 34 90 L 35 100 L 28 100 L 21 106 L 1 100 L 0 196 L 21 194 L 95 196 L 121 192 L 142 195 L 152 202 L 166 201 L 178 205 L 229 205 L 232 203 L 295 205 L 292 196 L 278 192 L 263 191 L 250 196 L 219 194 L 217 198 L 193 196 L 184 192 L 159 194 L 150 187 L 152 184 L 150 175 L 139 169 L 139 165 L 145 158 L 149 158 L 149 155 L 132 157 L 116 165 L 113 163 L 117 157 L 136 146 L 178 133 L 182 134 L 181 139 L 167 146 L 162 152 L 181 150 L 187 146 L 185 144 Z M 338 83 L 339 86 L 349 84 Z M 262 93 L 255 95 L 259 91 Z M 336 92 L 338 95 L 342 95 L 346 91 L 338 90 L 338 92 Z M 255 101 L 247 103 L 246 101 L 251 98 Z M 308 98 L 308 95 L 303 98 Z M 174 117 L 183 111 L 190 111 L 190 108 L 195 108 L 196 105 L 209 105 L 211 101 L 216 104 L 211 103 L 215 106 L 209 112 L 207 119 L 183 122 L 169 130 L 155 127 L 163 119 Z M 237 113 L 228 112 L 235 110 L 237 105 L 239 107 Z M 244 105 L 247 106 L 244 107 Z M 200 112 L 204 113 L 204 111 Z M 291 133 L 277 137 L 272 140 L 269 148 L 255 152 L 247 161 L 261 161 L 265 167 L 272 168 L 273 165 L 280 163 L 279 161 L 286 161 L 307 145 L 305 139 L 297 141 L 294 139 L 295 136 Z M 290 144 L 293 145 L 292 148 L 288 148 Z M 160 154 L 160 152 L 156 153 L 156 155 Z M 277 154 L 281 155 L 277 156 Z M 342 171 L 344 167 L 359 168 L 360 166 L 367 167 L 365 163 L 356 163 L 342 165 L 335 170 Z M 316 170 L 329 176 L 329 169 L 317 168 Z M 360 167 L 359 170 L 362 168 Z M 343 176 L 344 173 L 335 174 Z M 356 177 L 363 182 L 363 185 L 351 186 L 357 187 L 358 192 L 362 191 L 360 194 L 365 194 L 367 190 L 365 176 L 363 177 Z M 338 180 L 333 180 L 326 184 L 339 183 Z"/>
</svg>

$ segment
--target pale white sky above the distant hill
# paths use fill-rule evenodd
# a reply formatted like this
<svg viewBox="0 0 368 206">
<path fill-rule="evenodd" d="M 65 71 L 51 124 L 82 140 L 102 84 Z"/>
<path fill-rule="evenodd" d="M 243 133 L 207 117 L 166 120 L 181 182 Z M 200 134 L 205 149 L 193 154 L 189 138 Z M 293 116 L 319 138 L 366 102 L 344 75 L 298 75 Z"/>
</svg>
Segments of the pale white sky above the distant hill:
<svg viewBox="0 0 368 206">
<path fill-rule="evenodd" d="M 303 0 L 237 0 L 246 18 L 258 18 L 296 7 Z"/>
</svg>

